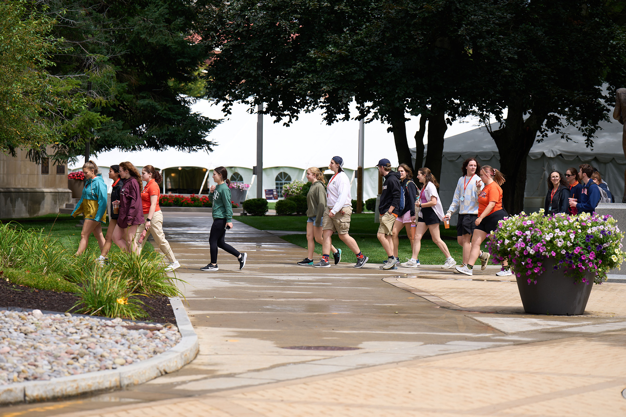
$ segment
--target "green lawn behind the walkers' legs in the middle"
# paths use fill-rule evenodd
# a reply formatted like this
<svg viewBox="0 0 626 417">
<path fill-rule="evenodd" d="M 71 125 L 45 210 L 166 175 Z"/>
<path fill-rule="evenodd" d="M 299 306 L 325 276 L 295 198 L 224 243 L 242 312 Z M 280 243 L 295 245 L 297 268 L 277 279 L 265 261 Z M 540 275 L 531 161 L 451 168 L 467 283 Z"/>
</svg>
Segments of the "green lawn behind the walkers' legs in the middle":
<svg viewBox="0 0 626 417">
<path fill-rule="evenodd" d="M 260 230 L 289 230 L 294 232 L 304 232 L 306 230 L 306 216 L 239 216 L 236 220 L 255 227 Z M 354 237 L 359 244 L 361 252 L 369 257 L 370 264 L 382 264 L 387 259 L 387 254 L 382 250 L 381 242 L 376 237 L 379 224 L 374 223 L 374 214 L 352 214 L 350 222 L 350 235 Z M 456 228 L 450 227 L 444 229 L 443 226 L 439 228 L 441 236 L 444 238 L 444 242 L 448 245 L 450 255 L 454 257 L 458 264 L 461 264 L 463 252 L 458 243 L 456 243 Z M 282 236 L 282 239 L 287 240 L 294 245 L 300 247 L 307 247 L 307 238 L 305 235 L 287 235 Z M 356 256 L 350 249 L 342 242 L 339 237 L 334 234 L 332 236 L 332 244 L 339 247 L 342 250 L 342 262 L 356 262 Z M 316 253 L 322 253 L 322 245 L 316 244 Z M 306 256 L 306 252 L 302 252 L 302 257 Z M 400 232 L 400 244 L 398 256 L 400 262 L 404 262 L 406 257 L 411 257 L 411 247 L 409 246 L 409 239 L 406 237 L 406 231 L 403 229 Z M 422 247 L 419 253 L 419 262 L 424 265 L 439 265 L 443 264 L 446 257 L 441 250 L 433 243 L 429 234 L 424 235 L 422 239 Z M 480 262 L 477 262 L 480 264 Z"/>
</svg>

